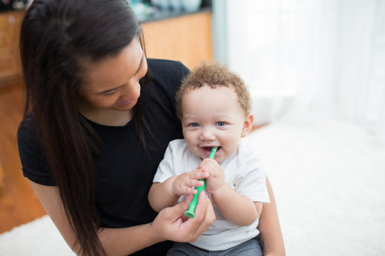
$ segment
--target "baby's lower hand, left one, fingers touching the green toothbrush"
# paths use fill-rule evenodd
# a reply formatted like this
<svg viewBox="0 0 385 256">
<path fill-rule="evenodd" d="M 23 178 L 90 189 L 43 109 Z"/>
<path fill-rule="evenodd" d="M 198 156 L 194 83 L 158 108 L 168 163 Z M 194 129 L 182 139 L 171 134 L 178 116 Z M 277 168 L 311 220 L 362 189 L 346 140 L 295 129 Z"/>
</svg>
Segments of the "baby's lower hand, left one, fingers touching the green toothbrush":
<svg viewBox="0 0 385 256">
<path fill-rule="evenodd" d="M 179 176 L 176 176 L 174 182 L 172 183 L 172 192 L 176 196 L 181 196 L 183 194 L 196 194 L 197 190 L 193 187 L 200 187 L 203 185 L 201 178 L 207 178 L 209 173 L 202 170 L 194 170 L 183 173 Z"/>
</svg>

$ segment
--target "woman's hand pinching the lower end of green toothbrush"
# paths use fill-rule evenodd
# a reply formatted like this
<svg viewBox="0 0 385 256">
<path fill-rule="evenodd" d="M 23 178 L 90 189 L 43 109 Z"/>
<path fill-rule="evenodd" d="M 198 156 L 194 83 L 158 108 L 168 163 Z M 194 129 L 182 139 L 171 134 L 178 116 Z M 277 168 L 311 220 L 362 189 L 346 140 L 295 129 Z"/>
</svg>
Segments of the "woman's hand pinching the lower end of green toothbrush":
<svg viewBox="0 0 385 256">
<path fill-rule="evenodd" d="M 164 240 L 181 243 L 197 240 L 198 236 L 214 222 L 215 213 L 211 200 L 205 192 L 201 192 L 195 208 L 195 218 L 183 220 L 184 212 L 188 210 L 191 199 L 193 196 L 189 194 L 181 203 L 160 211 L 151 224 L 153 232 L 160 234 Z"/>
</svg>

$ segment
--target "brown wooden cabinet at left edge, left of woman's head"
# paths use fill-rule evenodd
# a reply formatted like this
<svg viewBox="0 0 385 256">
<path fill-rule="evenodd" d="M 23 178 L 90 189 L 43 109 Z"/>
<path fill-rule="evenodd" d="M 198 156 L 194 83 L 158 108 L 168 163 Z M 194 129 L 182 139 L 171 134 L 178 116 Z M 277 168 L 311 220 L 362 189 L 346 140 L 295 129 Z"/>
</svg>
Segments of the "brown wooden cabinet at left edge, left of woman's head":
<svg viewBox="0 0 385 256">
<path fill-rule="evenodd" d="M 24 11 L 0 13 L 0 85 L 22 76 L 18 44 L 23 15 Z"/>
</svg>

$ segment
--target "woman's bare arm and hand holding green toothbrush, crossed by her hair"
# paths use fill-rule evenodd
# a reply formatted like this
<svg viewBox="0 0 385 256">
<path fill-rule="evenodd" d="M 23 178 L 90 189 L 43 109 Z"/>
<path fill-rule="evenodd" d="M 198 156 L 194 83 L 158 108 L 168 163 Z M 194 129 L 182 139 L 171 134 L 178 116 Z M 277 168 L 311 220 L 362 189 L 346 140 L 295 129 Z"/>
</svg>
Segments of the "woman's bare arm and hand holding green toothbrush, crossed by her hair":
<svg viewBox="0 0 385 256">
<path fill-rule="evenodd" d="M 78 253 L 80 248 L 73 246 L 76 242 L 76 234 L 66 217 L 58 188 L 39 185 L 34 182 L 31 182 L 31 185 L 66 243 L 74 252 Z M 196 217 L 183 222 L 181 216 L 188 209 L 191 199 L 191 196 L 187 197 L 180 204 L 165 208 L 153 222 L 146 225 L 120 229 L 100 229 L 99 239 L 102 241 L 107 255 L 129 255 L 165 240 L 195 241 L 214 222 L 215 213 L 211 200 L 202 192 L 195 209 Z"/>
</svg>

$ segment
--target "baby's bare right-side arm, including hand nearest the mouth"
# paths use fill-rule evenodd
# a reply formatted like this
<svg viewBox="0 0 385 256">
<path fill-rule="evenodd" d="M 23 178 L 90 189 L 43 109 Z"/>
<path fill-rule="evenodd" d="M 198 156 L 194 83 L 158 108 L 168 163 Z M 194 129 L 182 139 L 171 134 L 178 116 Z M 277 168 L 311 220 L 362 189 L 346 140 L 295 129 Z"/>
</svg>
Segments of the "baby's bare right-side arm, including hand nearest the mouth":
<svg viewBox="0 0 385 256">
<path fill-rule="evenodd" d="M 262 211 L 262 203 L 253 202 L 248 197 L 238 194 L 224 181 L 222 167 L 214 159 L 204 159 L 202 170 L 209 172 L 207 192 L 211 194 L 223 216 L 239 226 L 251 225 Z"/>
</svg>

